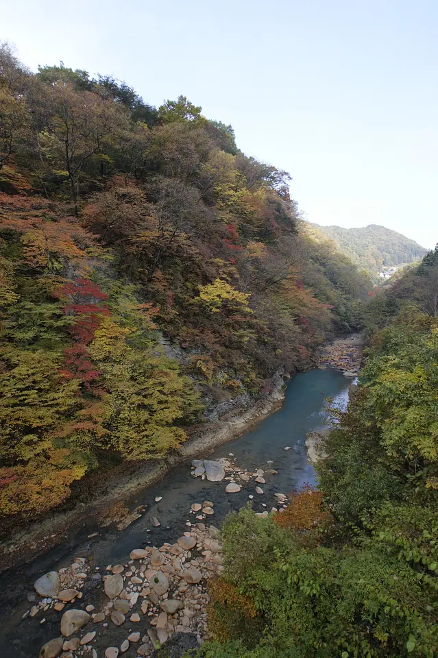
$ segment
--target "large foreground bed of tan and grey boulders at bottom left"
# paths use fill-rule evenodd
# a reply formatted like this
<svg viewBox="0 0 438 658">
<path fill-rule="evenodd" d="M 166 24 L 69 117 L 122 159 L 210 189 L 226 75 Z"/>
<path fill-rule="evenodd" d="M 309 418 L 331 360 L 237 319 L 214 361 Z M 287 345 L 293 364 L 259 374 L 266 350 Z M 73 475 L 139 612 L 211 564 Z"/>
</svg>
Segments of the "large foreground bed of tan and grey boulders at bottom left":
<svg viewBox="0 0 438 658">
<path fill-rule="evenodd" d="M 58 614 L 59 620 L 58 637 L 40 648 L 39 658 L 150 656 L 180 634 L 193 635 L 191 646 L 201 644 L 206 583 L 223 569 L 218 535 L 215 526 L 197 522 L 174 544 L 134 548 L 104 572 L 92 572 L 84 557 L 76 557 L 38 578 L 34 587 L 42 598 L 24 617 L 42 624 Z"/>
</svg>

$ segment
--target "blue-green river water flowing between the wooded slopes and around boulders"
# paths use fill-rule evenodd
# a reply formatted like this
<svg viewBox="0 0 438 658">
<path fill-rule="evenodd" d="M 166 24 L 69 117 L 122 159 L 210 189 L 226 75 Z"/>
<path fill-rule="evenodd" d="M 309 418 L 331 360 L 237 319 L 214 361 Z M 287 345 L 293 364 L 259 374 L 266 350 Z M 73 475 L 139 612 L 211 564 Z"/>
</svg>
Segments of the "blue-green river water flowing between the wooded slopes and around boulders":
<svg viewBox="0 0 438 658">
<path fill-rule="evenodd" d="M 239 509 L 252 501 L 256 511 L 268 510 L 276 503 L 273 493 L 289 493 L 304 483 L 315 484 L 315 471 L 308 464 L 306 434 L 324 424 L 325 398 L 332 398 L 339 405 L 348 400 L 348 387 L 352 380 L 332 368 L 313 369 L 295 375 L 289 382 L 282 408 L 260 422 L 245 435 L 217 448 L 208 459 L 217 459 L 232 453 L 236 465 L 247 470 L 272 468 L 278 472 L 267 478 L 263 495 L 254 493 L 254 480 L 243 483 L 239 493 L 226 494 L 223 482 L 210 483 L 191 476 L 190 463 L 175 467 L 162 482 L 149 487 L 136 496 L 125 500 L 128 508 L 147 506 L 143 516 L 118 532 L 111 526 L 101 528 L 98 519 L 77 524 L 62 544 L 17 570 L 10 570 L 0 578 L 0 646 L 2 658 L 35 658 L 42 644 L 59 635 L 62 613 L 48 611 L 46 622 L 40 624 L 42 615 L 21 620 L 32 603 L 27 594 L 34 593 L 33 583 L 49 570 L 59 570 L 70 564 L 74 557 L 88 557 L 92 570 L 127 559 L 134 548 L 147 545 L 160 546 L 164 541 L 175 541 L 187 529 L 186 521 L 191 504 L 211 500 L 215 513 L 208 517 L 215 525 L 221 524 L 233 509 Z M 291 450 L 284 450 L 290 446 Z M 271 464 L 267 463 L 272 461 Z M 246 484 L 246 486 L 245 486 Z M 155 502 L 155 498 L 162 500 Z M 160 527 L 154 528 L 150 518 L 158 517 Z M 88 535 L 98 533 L 89 538 Z M 14 642 L 14 644 L 12 644 Z M 126 656 L 135 655 L 126 653 Z"/>
</svg>

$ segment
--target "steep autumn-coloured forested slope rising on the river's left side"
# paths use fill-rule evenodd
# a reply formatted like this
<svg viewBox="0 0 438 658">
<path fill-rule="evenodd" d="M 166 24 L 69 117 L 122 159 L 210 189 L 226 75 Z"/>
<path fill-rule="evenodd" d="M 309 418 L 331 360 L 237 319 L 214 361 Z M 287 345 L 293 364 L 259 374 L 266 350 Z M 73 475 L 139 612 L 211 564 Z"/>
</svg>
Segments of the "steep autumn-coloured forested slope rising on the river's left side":
<svg viewBox="0 0 438 658">
<path fill-rule="evenodd" d="M 370 282 L 301 230 L 289 175 L 185 97 L 156 109 L 111 77 L 31 73 L 7 46 L 0 73 L 0 515 L 14 520 L 306 367 L 358 328 Z"/>
</svg>

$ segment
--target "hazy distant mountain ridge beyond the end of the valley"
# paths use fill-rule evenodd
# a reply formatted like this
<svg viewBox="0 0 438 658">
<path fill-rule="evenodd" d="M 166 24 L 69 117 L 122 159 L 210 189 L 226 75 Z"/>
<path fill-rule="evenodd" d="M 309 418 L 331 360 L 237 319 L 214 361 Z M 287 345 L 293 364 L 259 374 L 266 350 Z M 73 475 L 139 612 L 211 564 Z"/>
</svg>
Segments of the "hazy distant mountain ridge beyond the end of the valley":
<svg viewBox="0 0 438 658">
<path fill-rule="evenodd" d="M 385 226 L 369 224 L 363 228 L 342 228 L 341 226 L 319 226 L 309 222 L 314 237 L 323 234 L 336 243 L 354 263 L 369 270 L 374 276 L 384 267 L 407 265 L 423 258 L 428 249 L 415 240 Z"/>
</svg>

